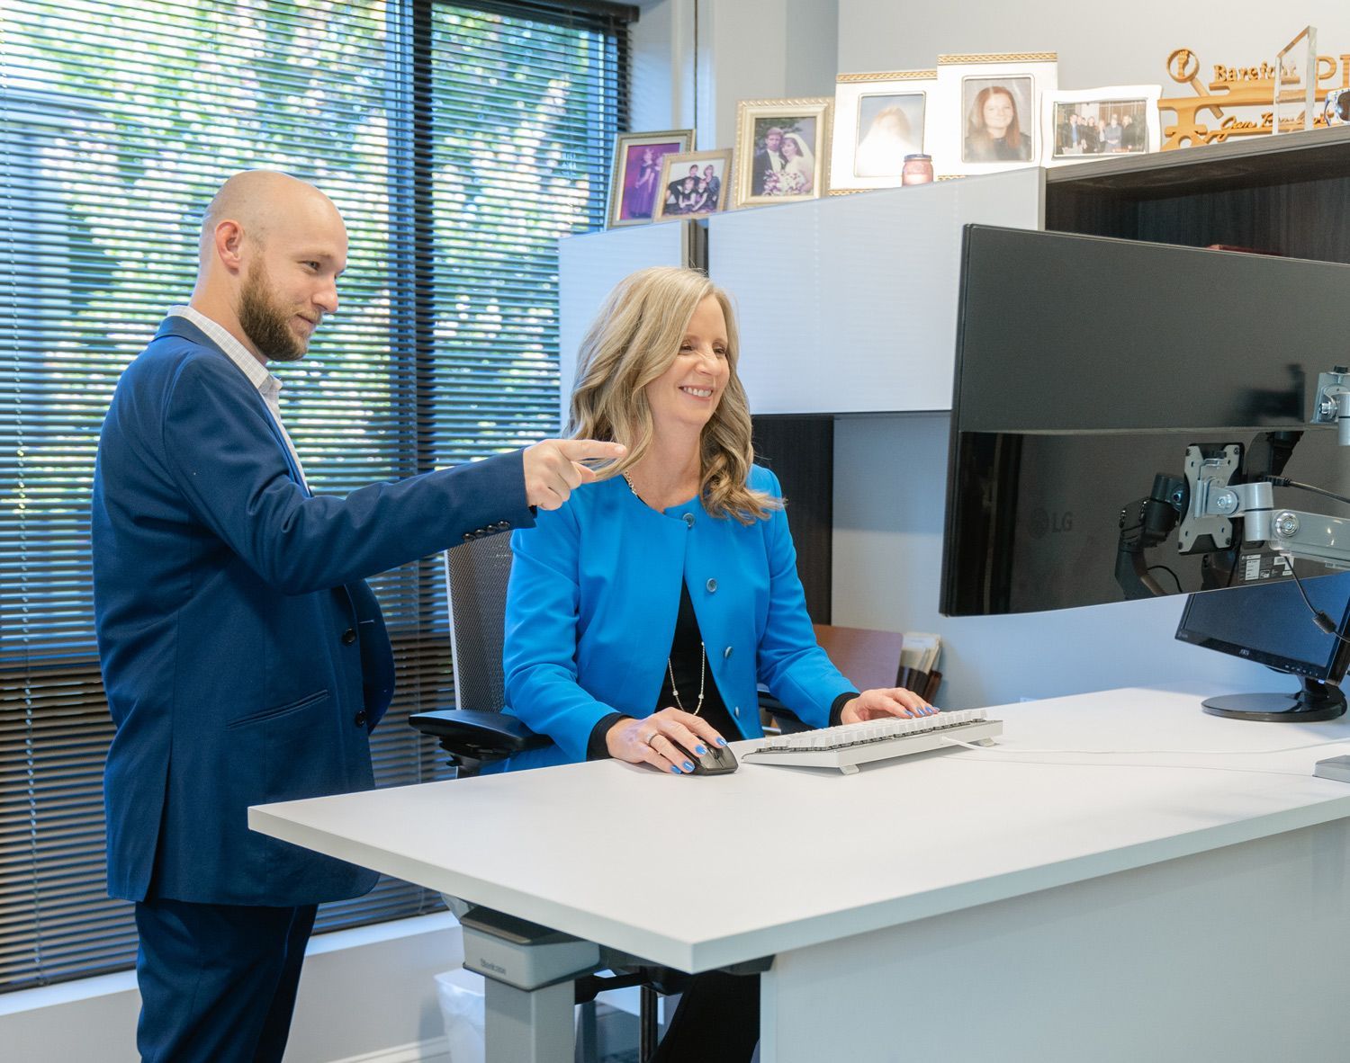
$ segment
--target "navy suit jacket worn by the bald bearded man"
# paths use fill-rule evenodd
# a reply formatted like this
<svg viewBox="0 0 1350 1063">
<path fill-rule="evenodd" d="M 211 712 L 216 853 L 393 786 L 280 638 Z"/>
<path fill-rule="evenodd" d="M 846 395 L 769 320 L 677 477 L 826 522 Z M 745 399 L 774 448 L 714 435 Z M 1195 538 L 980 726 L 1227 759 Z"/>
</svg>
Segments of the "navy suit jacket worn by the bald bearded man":
<svg viewBox="0 0 1350 1063">
<path fill-rule="evenodd" d="M 393 693 L 377 572 L 531 525 L 521 455 L 310 495 L 258 390 L 170 317 L 117 383 L 93 483 L 108 892 L 355 897 L 375 873 L 254 834 L 251 804 L 369 789 Z"/>
</svg>

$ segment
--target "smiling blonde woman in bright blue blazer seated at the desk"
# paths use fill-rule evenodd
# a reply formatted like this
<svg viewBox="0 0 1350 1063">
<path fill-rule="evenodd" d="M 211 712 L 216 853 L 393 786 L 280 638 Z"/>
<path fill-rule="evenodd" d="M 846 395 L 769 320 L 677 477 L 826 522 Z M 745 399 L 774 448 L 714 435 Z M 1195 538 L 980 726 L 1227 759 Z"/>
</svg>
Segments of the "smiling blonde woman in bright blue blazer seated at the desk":
<svg viewBox="0 0 1350 1063">
<path fill-rule="evenodd" d="M 738 356 L 726 293 L 672 267 L 621 281 L 582 341 L 568 434 L 628 453 L 513 534 L 506 600 L 508 711 L 554 762 L 690 773 L 761 734 L 757 683 L 815 726 L 936 711 L 857 693 L 817 645 Z M 744 1062 L 757 1036 L 757 979 L 699 975 L 655 1059 Z"/>
</svg>

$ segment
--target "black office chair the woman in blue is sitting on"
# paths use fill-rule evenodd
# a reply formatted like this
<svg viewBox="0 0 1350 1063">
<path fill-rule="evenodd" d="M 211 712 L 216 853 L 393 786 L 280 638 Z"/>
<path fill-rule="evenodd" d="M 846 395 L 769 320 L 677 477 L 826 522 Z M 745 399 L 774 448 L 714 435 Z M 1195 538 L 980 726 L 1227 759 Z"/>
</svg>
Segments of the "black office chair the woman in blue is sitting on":
<svg viewBox="0 0 1350 1063">
<path fill-rule="evenodd" d="M 485 765 L 512 754 L 552 745 L 547 735 L 501 712 L 506 703 L 502 642 L 510 563 L 509 536 L 470 540 L 446 550 L 456 707 L 416 712 L 408 722 L 440 742 L 456 778 L 475 776 Z M 683 971 L 647 965 L 624 965 L 609 975 L 578 978 L 576 1002 L 589 1008 L 582 1013 L 576 1058 L 594 1058 L 595 994 L 640 986 L 639 1059 L 651 1059 L 657 1039 L 657 994 L 682 993 L 687 983 Z"/>
</svg>

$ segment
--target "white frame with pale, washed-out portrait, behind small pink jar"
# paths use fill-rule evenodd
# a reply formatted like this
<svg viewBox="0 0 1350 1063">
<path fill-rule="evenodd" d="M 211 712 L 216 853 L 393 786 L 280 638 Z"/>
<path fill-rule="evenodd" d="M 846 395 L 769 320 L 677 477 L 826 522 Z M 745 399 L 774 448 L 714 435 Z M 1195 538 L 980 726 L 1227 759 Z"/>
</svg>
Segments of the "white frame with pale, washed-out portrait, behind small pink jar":
<svg viewBox="0 0 1350 1063">
<path fill-rule="evenodd" d="M 905 156 L 925 143 L 937 98 L 937 70 L 840 74 L 834 80 L 830 194 L 900 183 Z"/>
</svg>

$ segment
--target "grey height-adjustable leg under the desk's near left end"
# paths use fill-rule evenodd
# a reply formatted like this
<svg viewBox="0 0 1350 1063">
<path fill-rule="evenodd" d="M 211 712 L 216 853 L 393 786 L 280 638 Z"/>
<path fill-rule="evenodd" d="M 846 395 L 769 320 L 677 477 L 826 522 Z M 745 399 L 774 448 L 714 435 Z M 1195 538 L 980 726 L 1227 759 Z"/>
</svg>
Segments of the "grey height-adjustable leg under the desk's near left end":
<svg viewBox="0 0 1350 1063">
<path fill-rule="evenodd" d="M 459 923 L 464 966 L 487 979 L 487 1063 L 572 1063 L 572 983 L 599 969 L 599 947 L 487 908 Z"/>
</svg>

